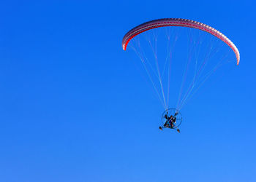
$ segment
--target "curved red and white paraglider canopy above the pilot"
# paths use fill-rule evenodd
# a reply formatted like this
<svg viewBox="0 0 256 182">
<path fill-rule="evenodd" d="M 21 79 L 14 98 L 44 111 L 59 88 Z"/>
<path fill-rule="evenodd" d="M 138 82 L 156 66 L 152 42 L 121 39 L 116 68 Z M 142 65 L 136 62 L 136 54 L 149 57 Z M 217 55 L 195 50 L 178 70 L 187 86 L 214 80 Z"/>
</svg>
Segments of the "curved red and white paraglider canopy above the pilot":
<svg viewBox="0 0 256 182">
<path fill-rule="evenodd" d="M 122 41 L 123 50 L 127 49 L 127 45 L 129 41 L 133 37 L 137 36 L 138 34 L 143 33 L 144 31 L 151 30 L 153 28 L 159 28 L 159 27 L 165 27 L 165 26 L 183 26 L 183 27 L 189 27 L 189 28 L 196 28 L 201 31 L 206 31 L 208 33 L 211 33 L 214 36 L 217 36 L 217 38 L 224 41 L 233 50 L 233 52 L 235 52 L 237 65 L 239 64 L 239 61 L 240 61 L 239 51 L 236 45 L 233 44 L 233 42 L 230 41 L 230 39 L 228 39 L 227 36 L 223 35 L 221 32 L 217 31 L 216 29 L 206 24 L 199 23 L 193 20 L 181 19 L 181 18 L 164 18 L 159 20 L 152 20 L 152 21 L 143 23 L 141 25 L 138 25 L 135 28 L 132 28 L 132 30 L 130 30 L 127 34 L 125 34 L 123 38 L 123 41 Z"/>
</svg>

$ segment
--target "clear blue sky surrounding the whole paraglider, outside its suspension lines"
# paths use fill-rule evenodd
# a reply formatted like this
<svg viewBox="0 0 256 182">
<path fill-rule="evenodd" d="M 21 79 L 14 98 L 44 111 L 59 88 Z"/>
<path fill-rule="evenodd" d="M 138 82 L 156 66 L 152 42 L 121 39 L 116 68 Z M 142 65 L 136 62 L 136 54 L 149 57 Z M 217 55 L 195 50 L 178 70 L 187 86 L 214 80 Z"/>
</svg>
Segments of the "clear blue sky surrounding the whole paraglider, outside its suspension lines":
<svg viewBox="0 0 256 182">
<path fill-rule="evenodd" d="M 0 181 L 256 181 L 254 1 L 1 1 Z M 135 25 L 197 20 L 239 66 L 160 132 L 162 106 L 121 47 Z"/>
</svg>

